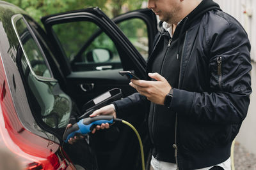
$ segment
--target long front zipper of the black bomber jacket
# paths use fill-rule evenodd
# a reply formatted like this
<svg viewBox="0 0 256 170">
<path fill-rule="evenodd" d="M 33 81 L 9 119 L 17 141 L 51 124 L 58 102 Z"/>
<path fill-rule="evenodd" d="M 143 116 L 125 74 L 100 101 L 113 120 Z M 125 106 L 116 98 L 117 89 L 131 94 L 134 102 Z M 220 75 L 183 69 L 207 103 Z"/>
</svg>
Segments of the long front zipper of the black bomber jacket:
<svg viewBox="0 0 256 170">
<path fill-rule="evenodd" d="M 182 53 L 180 56 L 180 74 L 179 74 L 179 89 L 181 88 L 181 71 L 182 71 L 182 59 L 183 59 L 183 53 L 184 53 L 184 48 L 186 45 L 186 39 L 187 39 L 187 35 L 188 35 L 188 31 L 186 31 L 186 35 L 185 35 L 185 39 L 184 39 L 184 44 L 183 44 L 183 48 L 182 48 Z M 174 156 L 175 156 L 175 161 L 176 161 L 176 165 L 177 165 L 177 170 L 179 170 L 179 164 L 178 164 L 178 146 L 177 146 L 177 126 L 178 126 L 178 114 L 176 113 L 176 118 L 175 118 L 175 136 L 174 136 L 174 144 L 172 145 L 175 152 L 174 152 Z"/>
</svg>

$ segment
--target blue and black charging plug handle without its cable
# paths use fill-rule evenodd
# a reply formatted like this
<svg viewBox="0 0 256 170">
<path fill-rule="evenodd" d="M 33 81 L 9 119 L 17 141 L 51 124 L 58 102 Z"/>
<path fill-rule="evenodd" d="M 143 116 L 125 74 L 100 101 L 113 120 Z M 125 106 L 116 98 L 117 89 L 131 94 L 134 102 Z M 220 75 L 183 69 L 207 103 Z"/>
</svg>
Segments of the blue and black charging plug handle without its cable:
<svg viewBox="0 0 256 170">
<path fill-rule="evenodd" d="M 63 134 L 63 141 L 68 142 L 68 139 L 73 138 L 76 134 L 88 134 L 91 132 L 96 125 L 101 124 L 113 124 L 113 116 L 99 116 L 92 118 L 84 118 L 72 125 L 72 127 L 66 129 Z"/>
</svg>

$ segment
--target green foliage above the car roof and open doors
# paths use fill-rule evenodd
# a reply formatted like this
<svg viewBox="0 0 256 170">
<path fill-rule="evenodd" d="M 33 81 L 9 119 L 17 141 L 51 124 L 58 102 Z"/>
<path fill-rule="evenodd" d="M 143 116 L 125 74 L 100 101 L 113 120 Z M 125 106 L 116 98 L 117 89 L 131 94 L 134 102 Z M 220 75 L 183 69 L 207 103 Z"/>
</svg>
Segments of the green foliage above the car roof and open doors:
<svg viewBox="0 0 256 170">
<path fill-rule="evenodd" d="M 37 22 L 41 17 L 64 11 L 98 6 L 109 17 L 115 17 L 125 10 L 141 8 L 143 0 L 5 0 L 27 11 Z"/>
</svg>

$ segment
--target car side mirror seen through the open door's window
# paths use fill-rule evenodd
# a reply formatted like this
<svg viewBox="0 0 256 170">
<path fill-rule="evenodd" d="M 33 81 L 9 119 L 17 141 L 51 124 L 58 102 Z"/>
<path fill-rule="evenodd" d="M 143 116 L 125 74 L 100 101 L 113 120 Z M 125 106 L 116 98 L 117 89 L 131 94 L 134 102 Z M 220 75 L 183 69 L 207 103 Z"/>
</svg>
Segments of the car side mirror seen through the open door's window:
<svg viewBox="0 0 256 170">
<path fill-rule="evenodd" d="M 96 48 L 86 54 L 88 62 L 107 62 L 113 58 L 113 54 L 106 48 Z"/>
</svg>

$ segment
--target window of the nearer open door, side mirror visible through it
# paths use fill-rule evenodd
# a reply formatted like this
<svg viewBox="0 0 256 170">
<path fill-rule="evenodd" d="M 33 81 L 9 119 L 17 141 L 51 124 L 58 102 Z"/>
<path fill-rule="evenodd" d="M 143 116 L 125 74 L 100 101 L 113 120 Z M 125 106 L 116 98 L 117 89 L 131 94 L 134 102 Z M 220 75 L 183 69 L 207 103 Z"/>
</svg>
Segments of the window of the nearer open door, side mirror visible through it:
<svg viewBox="0 0 256 170">
<path fill-rule="evenodd" d="M 83 66 L 79 71 L 122 68 L 115 44 L 94 22 L 56 24 L 52 30 L 58 37 L 72 71 L 78 71 L 78 66 Z M 102 64 L 109 67 L 103 67 Z"/>
</svg>

